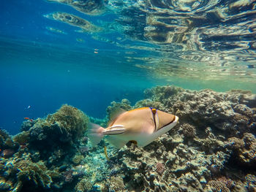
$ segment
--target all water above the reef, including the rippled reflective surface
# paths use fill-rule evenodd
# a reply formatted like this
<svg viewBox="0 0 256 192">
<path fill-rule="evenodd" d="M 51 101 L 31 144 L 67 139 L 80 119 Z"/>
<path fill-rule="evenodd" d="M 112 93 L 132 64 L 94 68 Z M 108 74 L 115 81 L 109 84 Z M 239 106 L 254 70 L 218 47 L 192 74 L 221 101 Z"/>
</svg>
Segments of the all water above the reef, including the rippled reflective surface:
<svg viewBox="0 0 256 192">
<path fill-rule="evenodd" d="M 0 126 L 11 134 L 24 117 L 42 117 L 65 103 L 103 118 L 110 101 L 134 103 L 156 85 L 256 92 L 254 3 L 177 1 L 168 8 L 153 1 L 72 2 L 77 7 L 52 1 L 0 7 Z M 83 11 L 79 2 L 87 2 Z M 89 20 L 101 31 L 46 17 L 56 12 Z"/>
</svg>

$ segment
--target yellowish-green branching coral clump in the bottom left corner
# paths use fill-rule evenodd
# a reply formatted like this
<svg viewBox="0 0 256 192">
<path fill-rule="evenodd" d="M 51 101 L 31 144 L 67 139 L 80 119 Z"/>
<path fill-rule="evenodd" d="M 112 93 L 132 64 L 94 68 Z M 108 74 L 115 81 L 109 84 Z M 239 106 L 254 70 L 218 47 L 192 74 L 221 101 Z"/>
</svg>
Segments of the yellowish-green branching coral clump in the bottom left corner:
<svg viewBox="0 0 256 192">
<path fill-rule="evenodd" d="M 8 191 L 34 191 L 53 188 L 51 184 L 59 173 L 48 169 L 43 161 L 34 163 L 29 154 L 15 154 L 15 157 L 1 161 L 2 183 L 8 185 Z M 0 185 L 4 190 L 7 185 Z"/>
</svg>

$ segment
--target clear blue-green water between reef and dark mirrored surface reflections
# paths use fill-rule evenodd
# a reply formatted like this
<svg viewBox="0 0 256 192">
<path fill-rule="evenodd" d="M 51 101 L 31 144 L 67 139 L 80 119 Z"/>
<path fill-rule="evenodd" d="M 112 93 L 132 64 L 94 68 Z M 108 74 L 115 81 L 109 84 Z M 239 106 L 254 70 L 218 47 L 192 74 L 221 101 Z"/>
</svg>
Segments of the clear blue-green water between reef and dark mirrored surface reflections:
<svg viewBox="0 0 256 192">
<path fill-rule="evenodd" d="M 78 27 L 44 17 L 58 11 L 77 15 L 105 27 L 106 31 L 101 34 L 78 33 Z M 255 31 L 241 38 L 236 38 L 238 35 L 233 39 L 226 37 L 229 46 L 219 46 L 219 50 L 214 46 L 221 43 L 225 37 L 223 34 L 218 38 L 208 38 L 202 44 L 204 48 L 179 50 L 184 42 L 162 44 L 145 40 L 146 34 L 141 37 L 139 30 L 145 27 L 143 23 L 133 32 L 110 30 L 109 23 L 118 25 L 114 23 L 120 20 L 118 14 L 109 11 L 104 15 L 90 16 L 67 5 L 48 1 L 2 2 L 0 128 L 16 134 L 23 118 L 44 117 L 58 110 L 61 104 L 71 104 L 94 118 L 104 118 L 111 101 L 125 98 L 135 104 L 143 99 L 146 88 L 156 85 L 174 84 L 216 91 L 241 88 L 256 93 Z M 134 17 L 138 22 L 144 16 Z M 253 19 L 255 14 L 244 17 L 244 20 Z M 122 22 L 119 24 L 123 26 L 135 24 L 135 21 Z M 200 25 L 197 23 L 197 26 Z M 50 31 L 48 27 L 59 29 L 64 34 Z M 237 43 L 245 41 L 248 48 Z M 235 42 L 240 48 L 232 47 Z M 98 53 L 94 53 L 95 49 Z M 208 58 L 213 53 L 217 54 L 216 58 Z M 218 57 L 218 54 L 222 55 Z M 202 55 L 206 57 L 197 59 Z M 211 63 L 215 59 L 219 59 L 219 63 Z"/>
</svg>

